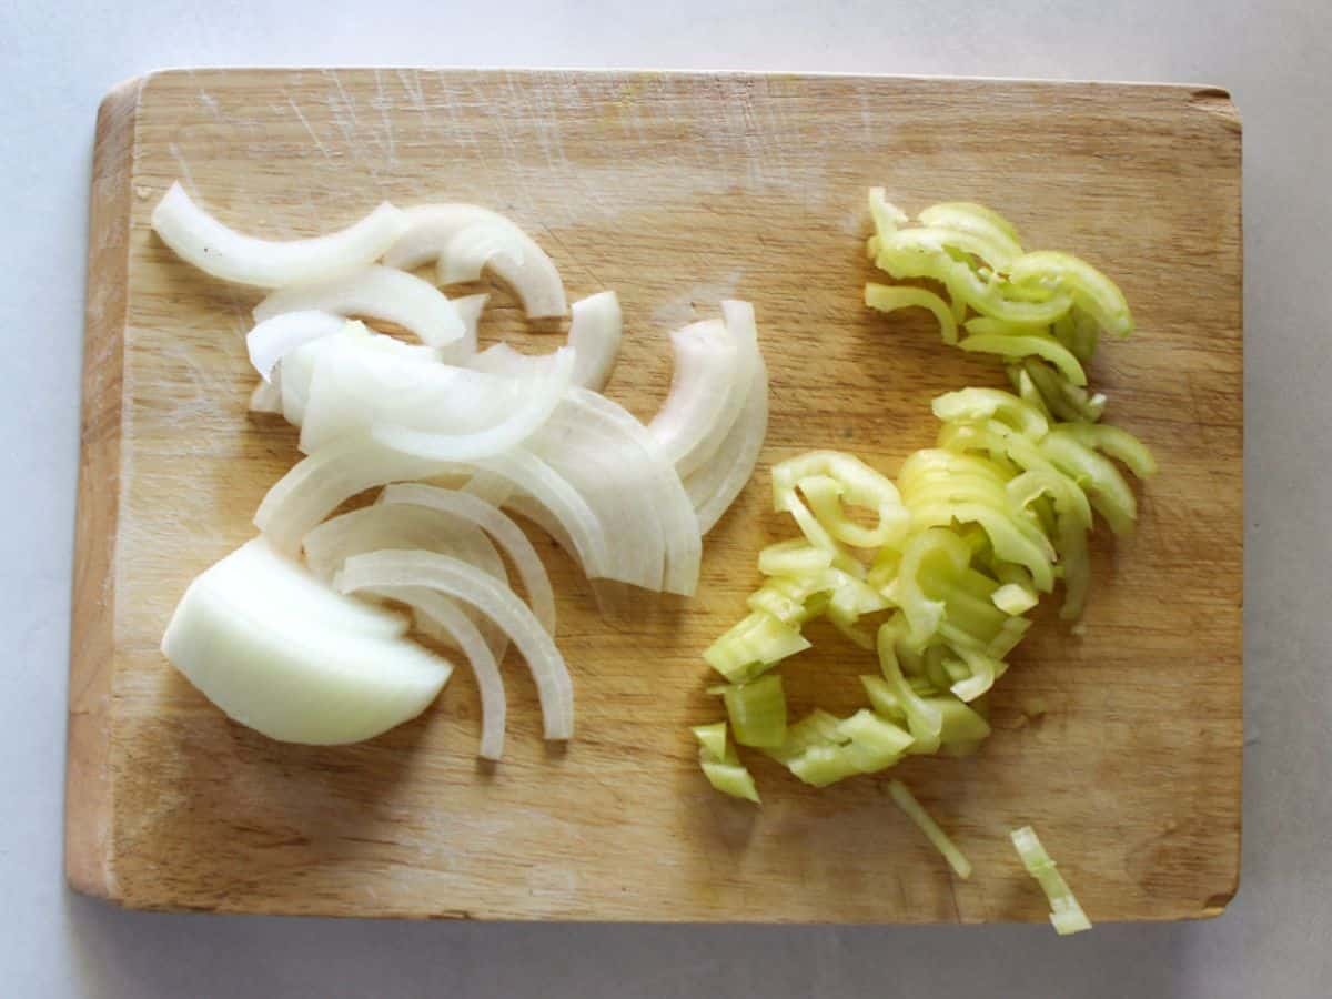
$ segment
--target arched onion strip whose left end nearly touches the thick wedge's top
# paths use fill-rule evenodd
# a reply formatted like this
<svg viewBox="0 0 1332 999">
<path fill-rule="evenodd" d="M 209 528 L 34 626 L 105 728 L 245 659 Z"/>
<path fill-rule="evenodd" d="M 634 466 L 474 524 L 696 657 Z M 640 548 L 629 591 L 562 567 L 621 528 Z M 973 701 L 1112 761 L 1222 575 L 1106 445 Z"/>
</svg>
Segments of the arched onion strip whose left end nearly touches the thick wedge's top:
<svg viewBox="0 0 1332 999">
<path fill-rule="evenodd" d="M 357 493 L 445 470 L 442 462 L 396 452 L 368 434 L 344 437 L 282 476 L 254 513 L 254 526 L 274 547 L 294 553 L 314 525 Z"/>
</svg>

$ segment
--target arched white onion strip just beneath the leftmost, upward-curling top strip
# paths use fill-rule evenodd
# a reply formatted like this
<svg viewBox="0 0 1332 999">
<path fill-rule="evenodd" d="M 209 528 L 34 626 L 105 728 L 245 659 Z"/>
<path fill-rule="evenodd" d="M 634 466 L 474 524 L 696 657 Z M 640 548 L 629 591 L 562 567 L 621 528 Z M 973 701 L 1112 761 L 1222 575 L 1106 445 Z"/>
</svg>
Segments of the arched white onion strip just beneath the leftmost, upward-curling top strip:
<svg viewBox="0 0 1332 999">
<path fill-rule="evenodd" d="M 394 322 L 430 346 L 462 340 L 466 329 L 444 292 L 405 270 L 372 264 L 330 281 L 273 292 L 254 308 L 260 322 L 284 312 L 332 312 Z"/>
</svg>

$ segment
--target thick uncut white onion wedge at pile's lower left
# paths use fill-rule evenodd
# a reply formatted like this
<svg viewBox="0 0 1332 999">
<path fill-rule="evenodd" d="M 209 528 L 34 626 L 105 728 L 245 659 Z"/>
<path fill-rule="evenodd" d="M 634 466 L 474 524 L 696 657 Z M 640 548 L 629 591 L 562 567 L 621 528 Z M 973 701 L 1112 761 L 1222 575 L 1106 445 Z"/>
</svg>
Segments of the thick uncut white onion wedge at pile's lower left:
<svg viewBox="0 0 1332 999">
<path fill-rule="evenodd" d="M 400 618 L 348 599 L 250 542 L 186 589 L 163 653 L 228 717 L 282 742 L 342 745 L 421 714 L 453 666 L 394 634 Z M 302 611 L 316 609 L 313 617 Z M 378 630 L 364 622 L 378 619 Z M 357 625 L 356 622 L 361 622 Z"/>
</svg>

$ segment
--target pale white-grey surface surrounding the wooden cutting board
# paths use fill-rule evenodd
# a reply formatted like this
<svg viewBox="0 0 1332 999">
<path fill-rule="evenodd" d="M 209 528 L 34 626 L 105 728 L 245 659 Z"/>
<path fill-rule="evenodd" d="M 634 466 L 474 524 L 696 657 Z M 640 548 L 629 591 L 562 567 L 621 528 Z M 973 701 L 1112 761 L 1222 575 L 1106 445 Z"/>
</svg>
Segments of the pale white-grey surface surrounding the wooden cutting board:
<svg viewBox="0 0 1332 999">
<path fill-rule="evenodd" d="M 0 669 L 0 994 L 1329 995 L 1329 53 L 1327 0 L 376 0 L 346 9 L 326 0 L 0 0 L 0 619 L 11 643 Z M 1108 926 L 1059 940 L 1046 927 L 164 916 L 69 894 L 61 782 L 95 112 L 112 84 L 144 71 L 237 64 L 848 71 L 1231 89 L 1244 119 L 1248 345 L 1248 746 L 1244 875 L 1231 910 L 1208 923 Z"/>
</svg>

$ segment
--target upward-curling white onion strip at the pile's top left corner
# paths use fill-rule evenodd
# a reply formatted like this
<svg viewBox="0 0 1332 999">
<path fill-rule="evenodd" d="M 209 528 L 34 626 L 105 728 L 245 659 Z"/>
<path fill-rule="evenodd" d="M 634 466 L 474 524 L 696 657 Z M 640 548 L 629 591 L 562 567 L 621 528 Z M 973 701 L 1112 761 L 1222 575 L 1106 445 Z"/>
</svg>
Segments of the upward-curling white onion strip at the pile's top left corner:
<svg viewBox="0 0 1332 999">
<path fill-rule="evenodd" d="M 157 202 L 153 230 L 200 270 L 241 285 L 284 288 L 326 281 L 377 260 L 406 230 L 386 201 L 361 221 L 309 240 L 260 240 L 222 225 L 177 182 Z"/>
</svg>

